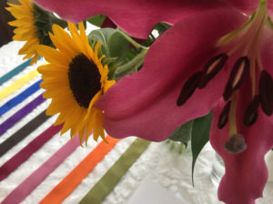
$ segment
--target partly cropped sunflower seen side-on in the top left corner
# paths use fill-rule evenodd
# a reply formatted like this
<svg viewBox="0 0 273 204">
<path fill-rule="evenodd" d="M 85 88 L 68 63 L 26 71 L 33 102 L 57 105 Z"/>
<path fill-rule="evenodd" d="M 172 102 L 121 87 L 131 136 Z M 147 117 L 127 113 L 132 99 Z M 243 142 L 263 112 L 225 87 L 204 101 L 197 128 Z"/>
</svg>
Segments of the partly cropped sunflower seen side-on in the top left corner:
<svg viewBox="0 0 273 204">
<path fill-rule="evenodd" d="M 48 32 L 52 31 L 52 24 L 66 27 L 66 22 L 35 5 L 32 0 L 19 0 L 19 2 L 21 5 L 7 3 L 10 7 L 5 9 L 16 19 L 8 24 L 17 27 L 13 38 L 15 41 L 26 41 L 19 54 L 25 54 L 24 59 L 33 57 L 31 61 L 33 64 L 38 60 L 39 55 L 36 51 L 38 44 L 53 46 L 48 35 Z"/>
</svg>

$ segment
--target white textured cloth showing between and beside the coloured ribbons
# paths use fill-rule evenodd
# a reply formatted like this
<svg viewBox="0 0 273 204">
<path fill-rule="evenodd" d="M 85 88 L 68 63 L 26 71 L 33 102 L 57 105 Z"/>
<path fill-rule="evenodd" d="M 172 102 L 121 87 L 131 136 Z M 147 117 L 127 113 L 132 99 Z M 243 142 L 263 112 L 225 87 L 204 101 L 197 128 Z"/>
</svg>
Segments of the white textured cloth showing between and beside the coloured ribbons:
<svg viewBox="0 0 273 204">
<path fill-rule="evenodd" d="M 0 77 L 9 70 L 15 68 L 16 65 L 22 63 L 22 56 L 17 55 L 17 51 L 22 46 L 22 43 L 12 42 L 0 48 Z M 40 64 L 42 62 L 39 62 Z M 36 68 L 37 65 L 29 66 L 24 72 L 15 75 L 10 81 L 0 86 L 0 90 L 14 82 L 16 79 L 28 73 L 30 70 Z M 17 92 L 0 102 L 2 106 L 5 102 L 13 98 L 19 92 L 22 92 L 30 84 L 38 81 L 39 77 L 32 82 L 26 84 Z M 35 92 L 32 96 L 27 98 L 24 102 L 17 105 L 10 112 L 6 112 L 0 117 L 0 123 L 5 121 L 12 114 L 20 110 L 28 102 L 31 102 L 42 90 Z M 15 131 L 35 117 L 39 112 L 43 112 L 48 105 L 44 102 L 39 105 L 34 112 L 28 114 L 22 121 L 15 124 L 13 128 L 5 132 L 0 137 L 0 143 L 5 141 Z M 53 124 L 56 118 L 53 117 L 46 121 L 42 126 L 32 132 L 24 141 L 18 143 L 13 149 L 8 151 L 0 159 L 0 165 L 9 160 L 16 152 L 32 141 L 36 135 L 45 131 Z M 67 197 L 63 202 L 66 204 L 78 203 L 84 198 L 86 193 L 96 184 L 98 180 L 106 173 L 119 156 L 126 150 L 134 137 L 127 138 L 120 141 L 116 147 L 111 151 L 106 158 L 102 160 L 96 168 L 83 180 L 80 185 Z M 9 177 L 0 182 L 0 202 L 27 178 L 33 171 L 35 171 L 45 160 L 54 154 L 62 145 L 69 140 L 69 135 L 65 134 L 60 137 L 57 134 L 53 139 L 45 143 L 45 145 L 36 151 L 28 160 L 25 161 L 17 170 L 15 170 Z M 73 170 L 80 160 L 83 160 L 86 155 L 96 146 L 95 141 L 89 140 L 88 147 L 77 148 L 55 171 L 53 171 L 22 203 L 34 204 L 38 203 L 45 195 L 53 189 L 56 184 L 61 181 L 71 170 Z M 152 180 L 160 184 L 162 187 L 173 192 L 182 203 L 200 203 L 200 204 L 215 204 L 221 203 L 217 201 L 217 182 L 212 180 L 211 170 L 214 160 L 214 151 L 209 144 L 201 152 L 197 159 L 195 170 L 195 187 L 191 184 L 191 153 L 190 150 L 184 151 L 182 155 L 176 151 L 170 151 L 166 142 L 152 143 L 147 151 L 145 151 L 136 163 L 127 171 L 126 175 L 116 185 L 116 188 L 106 197 L 103 204 L 126 204 L 128 199 L 133 195 L 141 180 L 149 176 Z M 263 199 L 258 199 L 260 204 L 273 203 L 273 182 L 268 183 L 265 189 L 265 196 Z"/>
</svg>

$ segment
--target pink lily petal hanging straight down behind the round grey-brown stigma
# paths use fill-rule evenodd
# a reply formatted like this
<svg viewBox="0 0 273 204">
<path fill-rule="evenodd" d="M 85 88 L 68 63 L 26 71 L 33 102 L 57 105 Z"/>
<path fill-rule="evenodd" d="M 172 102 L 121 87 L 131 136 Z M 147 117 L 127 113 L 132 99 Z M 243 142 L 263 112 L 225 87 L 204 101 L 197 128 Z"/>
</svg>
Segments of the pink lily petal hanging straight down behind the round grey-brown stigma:
<svg viewBox="0 0 273 204">
<path fill-rule="evenodd" d="M 246 105 L 250 102 L 250 81 L 238 92 L 237 129 L 248 145 L 247 150 L 232 154 L 225 150 L 224 142 L 228 139 L 228 124 L 219 130 L 217 120 L 223 110 L 224 102 L 219 102 L 213 110 L 213 123 L 210 143 L 225 162 L 226 174 L 218 188 L 218 199 L 227 204 L 254 204 L 262 197 L 268 180 L 268 170 L 264 160 L 265 154 L 273 147 L 272 117 L 266 116 L 258 109 L 258 121 L 247 128 L 243 124 Z"/>
</svg>

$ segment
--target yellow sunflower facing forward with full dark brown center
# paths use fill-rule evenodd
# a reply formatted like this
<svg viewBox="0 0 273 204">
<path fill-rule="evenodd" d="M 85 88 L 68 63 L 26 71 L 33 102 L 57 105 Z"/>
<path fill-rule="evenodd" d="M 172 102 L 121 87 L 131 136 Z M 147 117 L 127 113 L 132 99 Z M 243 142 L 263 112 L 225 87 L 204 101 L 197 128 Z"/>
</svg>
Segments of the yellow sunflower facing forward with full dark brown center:
<svg viewBox="0 0 273 204">
<path fill-rule="evenodd" d="M 54 34 L 49 35 L 56 49 L 45 45 L 37 48 L 49 63 L 38 67 L 44 97 L 52 99 L 46 113 L 60 113 L 56 125 L 64 123 L 61 134 L 71 129 L 72 138 L 79 133 L 80 140 L 86 136 L 87 141 L 93 131 L 94 140 L 99 136 L 105 139 L 103 112 L 93 104 L 115 81 L 108 81 L 108 67 L 101 63 L 105 55 L 98 57 L 100 42 L 93 50 L 84 24 L 78 27 L 79 32 L 75 24 L 68 23 L 70 35 L 54 24 Z"/>
</svg>

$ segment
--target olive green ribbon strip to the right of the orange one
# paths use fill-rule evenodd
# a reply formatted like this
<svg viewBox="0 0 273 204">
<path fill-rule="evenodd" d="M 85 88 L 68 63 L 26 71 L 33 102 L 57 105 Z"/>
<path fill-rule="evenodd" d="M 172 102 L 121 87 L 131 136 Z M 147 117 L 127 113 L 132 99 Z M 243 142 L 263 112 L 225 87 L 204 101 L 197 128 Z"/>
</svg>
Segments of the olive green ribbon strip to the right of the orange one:
<svg viewBox="0 0 273 204">
<path fill-rule="evenodd" d="M 86 194 L 85 198 L 80 201 L 80 204 L 100 204 L 115 188 L 118 181 L 126 174 L 126 171 L 129 170 L 138 157 L 147 149 L 149 143 L 150 141 L 137 138 Z"/>
</svg>

